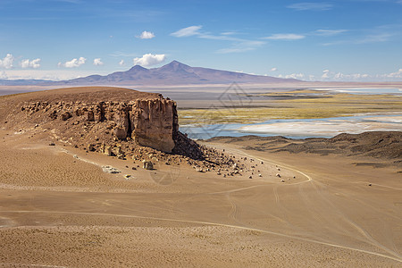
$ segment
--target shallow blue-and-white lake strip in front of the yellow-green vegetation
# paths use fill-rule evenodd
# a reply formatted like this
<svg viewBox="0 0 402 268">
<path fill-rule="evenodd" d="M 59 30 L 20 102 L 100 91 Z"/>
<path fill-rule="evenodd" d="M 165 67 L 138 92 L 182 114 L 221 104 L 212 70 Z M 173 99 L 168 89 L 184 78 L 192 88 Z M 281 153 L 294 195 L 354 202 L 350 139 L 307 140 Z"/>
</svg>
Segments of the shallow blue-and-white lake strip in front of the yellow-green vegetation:
<svg viewBox="0 0 402 268">
<path fill-rule="evenodd" d="M 214 124 L 180 127 L 180 131 L 188 133 L 189 138 L 197 139 L 246 135 L 331 138 L 340 133 L 357 134 L 374 130 L 402 131 L 402 113 L 386 115 L 364 114 L 320 119 L 270 120 L 254 124 Z"/>
</svg>

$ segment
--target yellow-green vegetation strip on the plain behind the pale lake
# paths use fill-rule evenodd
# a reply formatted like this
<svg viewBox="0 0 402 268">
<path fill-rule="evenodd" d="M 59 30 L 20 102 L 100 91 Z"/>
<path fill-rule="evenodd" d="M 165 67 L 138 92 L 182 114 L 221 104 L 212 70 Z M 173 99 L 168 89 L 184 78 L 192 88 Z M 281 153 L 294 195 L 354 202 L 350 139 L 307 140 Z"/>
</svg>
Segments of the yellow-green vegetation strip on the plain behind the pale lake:
<svg viewBox="0 0 402 268">
<path fill-rule="evenodd" d="M 278 94 L 283 95 L 283 92 Z M 262 103 L 258 102 L 259 107 L 255 108 L 183 109 L 178 111 L 179 122 L 180 125 L 253 123 L 272 119 L 352 116 L 356 113 L 402 113 L 402 97 L 394 95 L 333 94 L 319 98 L 267 100 L 265 104 L 266 107 L 261 107 Z"/>
</svg>

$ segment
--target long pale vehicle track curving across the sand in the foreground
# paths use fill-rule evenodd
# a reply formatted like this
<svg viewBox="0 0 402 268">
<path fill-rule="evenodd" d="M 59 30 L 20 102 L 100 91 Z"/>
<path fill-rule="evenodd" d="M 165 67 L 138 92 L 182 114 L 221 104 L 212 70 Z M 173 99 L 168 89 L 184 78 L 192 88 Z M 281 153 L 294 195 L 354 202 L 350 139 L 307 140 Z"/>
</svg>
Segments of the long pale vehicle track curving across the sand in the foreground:
<svg viewBox="0 0 402 268">
<path fill-rule="evenodd" d="M 368 250 L 364 250 L 364 249 L 359 249 L 359 248 L 355 248 L 355 247 L 345 247 L 345 246 L 322 242 L 322 241 L 318 241 L 318 240 L 314 240 L 314 239 L 299 238 L 296 236 L 282 234 L 282 233 L 274 232 L 274 231 L 270 231 L 270 230 L 261 230 L 261 229 L 255 229 L 255 228 L 238 226 L 238 225 L 224 224 L 224 223 L 219 223 L 219 222 L 188 221 L 188 220 L 180 220 L 180 219 L 147 217 L 147 216 L 138 216 L 138 215 L 126 215 L 126 214 L 101 214 L 101 213 L 64 212 L 64 211 L 46 211 L 46 210 L 40 210 L 40 211 L 39 210 L 38 211 L 27 211 L 27 210 L 6 211 L 6 210 L 2 210 L 2 211 L 0 211 L 0 213 L 93 215 L 93 216 L 110 216 L 110 217 L 123 217 L 123 218 L 133 218 L 133 219 L 146 219 L 146 220 L 163 221 L 163 222 L 186 222 L 186 223 L 194 223 L 194 224 L 222 226 L 222 227 L 234 228 L 234 229 L 239 229 L 239 230 L 254 230 L 254 231 L 261 232 L 261 233 L 271 234 L 271 235 L 275 235 L 275 236 L 279 236 L 279 237 L 283 237 L 283 238 L 297 239 L 300 241 L 310 242 L 310 243 L 324 245 L 324 246 L 328 246 L 328 247 L 337 247 L 337 248 L 342 248 L 342 249 L 348 249 L 348 250 L 352 250 L 352 251 L 356 251 L 356 252 L 360 252 L 360 253 L 364 253 L 364 254 L 368 254 L 368 255 L 376 255 L 376 256 L 384 257 L 384 258 L 396 261 L 398 263 L 402 263 L 402 258 L 397 257 L 397 256 L 385 255 L 385 254 L 372 252 L 372 251 L 368 251 Z M 7 229 L 7 228 L 4 228 L 4 229 Z"/>
</svg>

